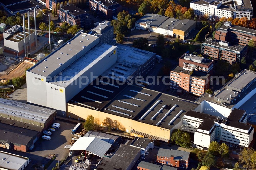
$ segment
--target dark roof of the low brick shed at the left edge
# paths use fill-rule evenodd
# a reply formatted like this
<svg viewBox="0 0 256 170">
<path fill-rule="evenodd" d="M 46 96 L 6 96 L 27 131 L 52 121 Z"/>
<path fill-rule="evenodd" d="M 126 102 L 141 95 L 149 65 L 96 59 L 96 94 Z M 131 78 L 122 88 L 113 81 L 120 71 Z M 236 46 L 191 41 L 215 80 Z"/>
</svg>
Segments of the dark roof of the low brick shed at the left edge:
<svg viewBox="0 0 256 170">
<path fill-rule="evenodd" d="M 11 142 L 26 146 L 37 134 L 38 132 L 33 130 L 0 123 L 0 140 L 4 140 L 6 143 Z"/>
</svg>

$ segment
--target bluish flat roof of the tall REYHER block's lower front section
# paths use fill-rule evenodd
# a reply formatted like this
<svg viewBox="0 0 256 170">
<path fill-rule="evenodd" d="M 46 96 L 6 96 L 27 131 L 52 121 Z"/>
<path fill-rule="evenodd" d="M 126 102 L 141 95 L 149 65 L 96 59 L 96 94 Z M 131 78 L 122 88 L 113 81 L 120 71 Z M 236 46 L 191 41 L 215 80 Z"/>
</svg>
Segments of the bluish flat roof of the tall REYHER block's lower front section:
<svg viewBox="0 0 256 170">
<path fill-rule="evenodd" d="M 99 60 L 106 56 L 106 54 L 108 54 L 110 51 L 114 49 L 115 46 L 98 43 L 92 49 L 83 54 L 82 57 L 80 57 L 70 66 L 68 66 L 65 70 L 61 71 L 61 74 L 58 74 L 56 76 L 57 78 L 53 81 L 49 81 L 49 83 L 61 87 L 67 87 L 69 84 L 71 84 L 77 79 L 76 75 L 83 75 L 91 67 L 97 64 Z"/>
</svg>

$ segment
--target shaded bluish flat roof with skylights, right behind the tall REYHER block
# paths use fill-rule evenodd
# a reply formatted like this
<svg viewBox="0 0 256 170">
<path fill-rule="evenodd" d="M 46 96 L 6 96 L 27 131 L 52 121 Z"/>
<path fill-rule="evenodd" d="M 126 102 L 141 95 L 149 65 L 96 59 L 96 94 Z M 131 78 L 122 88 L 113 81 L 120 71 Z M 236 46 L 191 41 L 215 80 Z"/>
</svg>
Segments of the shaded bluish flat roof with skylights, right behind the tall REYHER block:
<svg viewBox="0 0 256 170">
<path fill-rule="evenodd" d="M 127 45 L 115 44 L 115 46 L 117 46 L 116 63 L 106 70 L 102 76 L 112 78 L 113 73 L 115 78 L 119 77 L 120 80 L 122 80 L 121 77 L 124 77 L 127 79 L 127 77 L 132 75 L 140 65 L 143 65 L 155 55 L 155 53 Z"/>
</svg>

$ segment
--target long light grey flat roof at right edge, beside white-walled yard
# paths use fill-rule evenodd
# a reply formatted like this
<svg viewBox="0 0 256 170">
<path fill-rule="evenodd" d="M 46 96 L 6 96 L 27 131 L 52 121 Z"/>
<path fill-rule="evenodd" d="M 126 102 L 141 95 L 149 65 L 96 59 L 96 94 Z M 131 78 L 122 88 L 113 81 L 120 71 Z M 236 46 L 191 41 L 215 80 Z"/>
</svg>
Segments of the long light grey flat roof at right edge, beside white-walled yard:
<svg viewBox="0 0 256 170">
<path fill-rule="evenodd" d="M 248 83 L 253 81 L 255 78 L 256 78 L 256 72 L 245 70 L 244 72 L 242 72 L 242 74 L 239 77 L 231 81 L 228 84 L 228 86 L 242 90 L 244 87 L 247 86 Z"/>
</svg>

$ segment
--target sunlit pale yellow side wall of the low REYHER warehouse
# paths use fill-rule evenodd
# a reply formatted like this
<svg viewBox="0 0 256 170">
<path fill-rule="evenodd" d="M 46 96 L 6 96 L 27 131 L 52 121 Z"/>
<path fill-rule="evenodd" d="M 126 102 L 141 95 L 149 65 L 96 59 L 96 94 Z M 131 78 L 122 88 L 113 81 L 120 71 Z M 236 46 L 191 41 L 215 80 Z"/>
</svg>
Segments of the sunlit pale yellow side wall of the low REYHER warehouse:
<svg viewBox="0 0 256 170">
<path fill-rule="evenodd" d="M 94 118 L 99 118 L 100 125 L 103 126 L 102 122 L 104 122 L 104 119 L 108 117 L 113 121 L 117 120 L 118 122 L 120 122 L 121 126 L 124 127 L 126 132 L 130 132 L 133 129 L 135 131 L 146 133 L 149 135 L 161 137 L 164 139 L 170 139 L 170 129 L 161 128 L 158 126 L 146 124 L 136 120 L 112 115 L 112 114 L 97 111 L 97 110 L 92 110 L 92 109 L 77 106 L 77 105 L 67 104 L 66 107 L 67 107 L 66 108 L 67 117 L 70 116 L 70 118 L 73 118 L 73 119 L 79 118 L 80 120 L 86 120 L 88 115 L 92 115 Z M 134 134 L 132 134 L 132 136 L 134 136 Z"/>
</svg>

